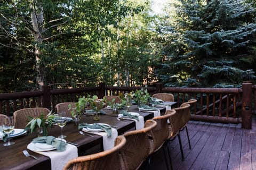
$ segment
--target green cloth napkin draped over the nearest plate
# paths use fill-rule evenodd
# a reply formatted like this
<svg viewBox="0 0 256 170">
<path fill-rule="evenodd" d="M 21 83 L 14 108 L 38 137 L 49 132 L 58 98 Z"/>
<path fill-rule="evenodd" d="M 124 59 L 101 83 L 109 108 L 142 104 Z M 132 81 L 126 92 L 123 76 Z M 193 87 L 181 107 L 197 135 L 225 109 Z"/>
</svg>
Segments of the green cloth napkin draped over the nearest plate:
<svg viewBox="0 0 256 170">
<path fill-rule="evenodd" d="M 38 137 L 32 140 L 33 143 L 47 143 L 48 145 L 52 145 L 55 147 L 58 151 L 65 151 L 67 143 L 62 140 L 57 140 L 53 136 L 47 136 L 47 137 Z"/>
</svg>

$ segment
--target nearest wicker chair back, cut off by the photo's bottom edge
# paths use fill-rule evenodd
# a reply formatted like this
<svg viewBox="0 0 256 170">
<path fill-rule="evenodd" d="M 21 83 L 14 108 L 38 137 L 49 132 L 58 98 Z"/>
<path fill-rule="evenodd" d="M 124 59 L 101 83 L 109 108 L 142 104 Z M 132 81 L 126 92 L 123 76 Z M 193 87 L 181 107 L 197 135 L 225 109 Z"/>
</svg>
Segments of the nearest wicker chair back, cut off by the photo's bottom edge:
<svg viewBox="0 0 256 170">
<path fill-rule="evenodd" d="M 97 154 L 80 156 L 69 160 L 63 167 L 63 170 L 84 169 L 84 170 L 119 170 L 124 169 L 121 157 L 118 151 L 125 146 L 126 139 L 123 135 L 119 135 L 115 140 L 115 147 L 109 150 L 98 152 Z"/>
</svg>

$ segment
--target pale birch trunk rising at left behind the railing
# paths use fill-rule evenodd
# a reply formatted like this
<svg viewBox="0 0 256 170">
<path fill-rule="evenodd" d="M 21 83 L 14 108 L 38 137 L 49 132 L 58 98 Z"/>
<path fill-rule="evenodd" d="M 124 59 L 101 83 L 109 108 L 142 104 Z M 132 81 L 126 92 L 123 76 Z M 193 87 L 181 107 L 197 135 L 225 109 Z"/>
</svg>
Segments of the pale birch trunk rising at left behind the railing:
<svg viewBox="0 0 256 170">
<path fill-rule="evenodd" d="M 43 7 L 41 5 L 36 4 L 35 1 L 30 1 L 30 8 L 32 9 L 30 17 L 33 26 L 33 36 L 36 42 L 35 44 L 35 60 L 36 60 L 36 84 L 39 90 L 42 90 L 42 86 L 44 85 L 45 81 L 45 66 L 42 64 L 42 60 L 40 58 L 41 51 L 39 45 L 43 41 Z"/>
</svg>

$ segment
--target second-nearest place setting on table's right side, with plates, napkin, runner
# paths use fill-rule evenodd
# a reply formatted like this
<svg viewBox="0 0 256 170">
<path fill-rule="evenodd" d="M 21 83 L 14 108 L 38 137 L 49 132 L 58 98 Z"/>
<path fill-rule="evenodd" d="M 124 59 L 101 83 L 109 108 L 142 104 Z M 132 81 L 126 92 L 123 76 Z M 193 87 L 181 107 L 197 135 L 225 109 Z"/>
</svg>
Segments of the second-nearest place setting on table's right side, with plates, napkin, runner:
<svg viewBox="0 0 256 170">
<path fill-rule="evenodd" d="M 105 123 L 81 123 L 78 125 L 78 131 L 86 133 L 98 134 L 102 136 L 103 150 L 111 149 L 115 146 L 115 139 L 118 135 L 117 130 L 111 128 L 110 125 Z"/>
</svg>

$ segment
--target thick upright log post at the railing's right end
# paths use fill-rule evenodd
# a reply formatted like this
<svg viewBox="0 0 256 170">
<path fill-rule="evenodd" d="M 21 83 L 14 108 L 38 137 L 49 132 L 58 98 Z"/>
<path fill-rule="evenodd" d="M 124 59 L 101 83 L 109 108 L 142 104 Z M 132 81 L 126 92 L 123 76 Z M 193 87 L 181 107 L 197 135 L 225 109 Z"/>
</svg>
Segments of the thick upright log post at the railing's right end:
<svg viewBox="0 0 256 170">
<path fill-rule="evenodd" d="M 244 81 L 242 88 L 242 128 L 252 129 L 252 81 Z"/>
</svg>

